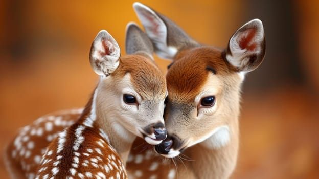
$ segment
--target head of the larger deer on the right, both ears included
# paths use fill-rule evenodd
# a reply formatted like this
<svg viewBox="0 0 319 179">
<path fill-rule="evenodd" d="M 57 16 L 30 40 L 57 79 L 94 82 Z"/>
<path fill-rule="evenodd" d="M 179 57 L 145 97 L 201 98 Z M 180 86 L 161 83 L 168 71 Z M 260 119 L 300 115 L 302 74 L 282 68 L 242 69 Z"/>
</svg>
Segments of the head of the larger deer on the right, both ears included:
<svg viewBox="0 0 319 179">
<path fill-rule="evenodd" d="M 208 148 L 227 145 L 237 131 L 240 88 L 244 74 L 263 61 L 265 37 L 259 19 L 239 28 L 222 50 L 191 39 L 167 17 L 140 3 L 133 5 L 155 53 L 173 59 L 166 80 L 164 112 L 167 139 L 155 146 L 174 157 L 201 143 Z"/>
</svg>

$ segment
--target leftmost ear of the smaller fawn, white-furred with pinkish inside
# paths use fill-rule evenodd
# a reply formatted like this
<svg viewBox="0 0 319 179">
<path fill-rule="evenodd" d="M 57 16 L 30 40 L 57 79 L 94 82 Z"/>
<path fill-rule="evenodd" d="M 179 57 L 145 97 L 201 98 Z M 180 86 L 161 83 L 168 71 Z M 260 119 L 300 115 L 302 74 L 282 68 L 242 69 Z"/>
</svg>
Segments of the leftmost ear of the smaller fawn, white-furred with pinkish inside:
<svg viewBox="0 0 319 179">
<path fill-rule="evenodd" d="M 118 42 L 106 30 L 101 30 L 91 46 L 90 64 L 95 73 L 108 76 L 118 68 L 120 54 Z"/>
</svg>

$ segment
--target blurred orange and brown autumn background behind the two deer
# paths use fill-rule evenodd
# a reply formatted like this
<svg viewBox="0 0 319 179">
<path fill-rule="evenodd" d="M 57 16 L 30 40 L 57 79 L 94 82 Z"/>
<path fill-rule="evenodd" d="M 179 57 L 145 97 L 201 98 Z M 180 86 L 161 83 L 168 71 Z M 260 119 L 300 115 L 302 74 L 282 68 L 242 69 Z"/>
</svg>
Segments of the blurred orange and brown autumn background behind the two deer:
<svg viewBox="0 0 319 179">
<path fill-rule="evenodd" d="M 88 63 L 105 29 L 125 54 L 134 1 L 0 2 L 0 146 L 52 111 L 84 106 L 98 77 Z M 260 18 L 266 57 L 243 86 L 240 152 L 232 178 L 319 178 L 319 2 L 141 1 L 203 44 L 226 47 Z M 140 23 L 139 23 L 140 24 Z M 166 71 L 170 63 L 156 58 Z M 3 159 L 0 176 L 8 178 Z"/>
</svg>

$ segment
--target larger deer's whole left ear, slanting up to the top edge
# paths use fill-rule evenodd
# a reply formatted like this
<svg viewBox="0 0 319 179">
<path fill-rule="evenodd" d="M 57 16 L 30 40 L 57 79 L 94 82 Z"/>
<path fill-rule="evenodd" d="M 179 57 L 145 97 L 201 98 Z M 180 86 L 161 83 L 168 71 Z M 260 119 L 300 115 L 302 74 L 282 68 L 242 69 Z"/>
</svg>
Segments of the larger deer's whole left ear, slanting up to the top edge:
<svg viewBox="0 0 319 179">
<path fill-rule="evenodd" d="M 141 3 L 134 3 L 133 8 L 159 57 L 174 59 L 178 51 L 198 46 L 196 41 L 167 17 Z"/>
</svg>

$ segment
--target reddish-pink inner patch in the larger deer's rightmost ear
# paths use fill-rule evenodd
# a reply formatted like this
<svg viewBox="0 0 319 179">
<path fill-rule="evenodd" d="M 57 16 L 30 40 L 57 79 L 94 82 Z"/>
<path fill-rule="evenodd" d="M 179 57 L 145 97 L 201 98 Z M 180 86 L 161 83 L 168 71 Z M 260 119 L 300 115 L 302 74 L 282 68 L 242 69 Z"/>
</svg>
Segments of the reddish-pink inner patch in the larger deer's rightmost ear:
<svg viewBox="0 0 319 179">
<path fill-rule="evenodd" d="M 238 44 L 241 49 L 254 51 L 257 48 L 257 43 L 254 40 L 256 36 L 256 29 L 248 29 L 239 37 Z"/>
</svg>

